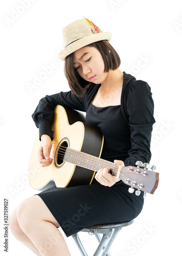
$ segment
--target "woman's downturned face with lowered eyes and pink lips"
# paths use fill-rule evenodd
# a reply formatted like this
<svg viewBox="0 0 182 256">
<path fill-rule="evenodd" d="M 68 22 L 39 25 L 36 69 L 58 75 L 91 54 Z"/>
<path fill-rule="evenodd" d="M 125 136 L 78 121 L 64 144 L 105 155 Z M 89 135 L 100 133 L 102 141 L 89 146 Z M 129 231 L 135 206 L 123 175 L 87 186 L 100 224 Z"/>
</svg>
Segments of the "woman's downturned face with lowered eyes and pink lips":
<svg viewBox="0 0 182 256">
<path fill-rule="evenodd" d="M 73 65 L 78 74 L 89 82 L 102 83 L 107 76 L 102 55 L 95 47 L 85 46 L 75 51 Z"/>
</svg>

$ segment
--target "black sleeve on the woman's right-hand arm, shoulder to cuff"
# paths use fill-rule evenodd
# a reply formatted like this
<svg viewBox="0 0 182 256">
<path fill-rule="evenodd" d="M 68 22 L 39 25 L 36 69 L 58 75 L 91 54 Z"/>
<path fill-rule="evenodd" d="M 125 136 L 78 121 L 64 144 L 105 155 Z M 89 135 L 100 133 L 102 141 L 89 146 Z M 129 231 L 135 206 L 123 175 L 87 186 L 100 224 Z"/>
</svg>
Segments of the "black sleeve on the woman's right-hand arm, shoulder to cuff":
<svg viewBox="0 0 182 256">
<path fill-rule="evenodd" d="M 137 80 L 130 87 L 126 98 L 126 110 L 129 117 L 131 148 L 125 165 L 135 165 L 136 161 L 150 162 L 150 141 L 154 103 L 147 82 Z"/>
</svg>

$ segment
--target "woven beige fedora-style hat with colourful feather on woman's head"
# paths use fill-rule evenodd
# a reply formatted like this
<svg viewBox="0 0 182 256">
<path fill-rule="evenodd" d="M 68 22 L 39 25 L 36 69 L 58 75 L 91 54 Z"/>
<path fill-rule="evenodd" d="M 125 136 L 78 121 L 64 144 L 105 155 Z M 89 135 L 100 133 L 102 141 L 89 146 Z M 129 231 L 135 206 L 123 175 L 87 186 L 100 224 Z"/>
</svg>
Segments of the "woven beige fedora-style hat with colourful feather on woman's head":
<svg viewBox="0 0 182 256">
<path fill-rule="evenodd" d="M 65 57 L 76 50 L 93 42 L 111 39 L 110 32 L 102 32 L 87 18 L 78 19 L 62 29 L 64 49 L 58 53 L 58 58 Z"/>
</svg>

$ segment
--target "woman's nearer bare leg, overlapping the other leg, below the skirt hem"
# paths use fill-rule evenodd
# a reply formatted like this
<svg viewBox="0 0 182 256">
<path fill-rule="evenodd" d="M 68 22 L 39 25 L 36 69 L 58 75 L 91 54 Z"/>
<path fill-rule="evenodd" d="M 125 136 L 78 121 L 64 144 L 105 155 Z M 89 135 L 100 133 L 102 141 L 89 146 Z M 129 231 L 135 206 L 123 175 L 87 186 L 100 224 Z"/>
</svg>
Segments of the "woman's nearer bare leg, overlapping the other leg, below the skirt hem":
<svg viewBox="0 0 182 256">
<path fill-rule="evenodd" d="M 70 256 L 64 238 L 57 229 L 59 223 L 39 196 L 23 201 L 16 208 L 16 217 L 26 236 L 22 242 L 35 253 L 38 252 L 37 255 Z"/>
</svg>

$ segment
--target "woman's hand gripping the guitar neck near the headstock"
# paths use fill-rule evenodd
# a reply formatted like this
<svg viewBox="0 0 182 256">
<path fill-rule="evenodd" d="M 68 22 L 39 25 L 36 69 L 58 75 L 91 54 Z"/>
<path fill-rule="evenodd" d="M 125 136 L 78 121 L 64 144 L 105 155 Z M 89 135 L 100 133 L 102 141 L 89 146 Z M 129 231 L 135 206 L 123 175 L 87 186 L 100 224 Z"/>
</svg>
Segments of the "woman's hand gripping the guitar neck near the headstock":
<svg viewBox="0 0 182 256">
<path fill-rule="evenodd" d="M 124 166 L 123 161 L 115 160 L 115 164 Z M 109 174 L 109 168 L 100 169 L 97 174 L 95 175 L 95 179 L 104 186 L 111 187 L 116 182 L 120 181 L 121 179 L 113 177 Z"/>
</svg>

